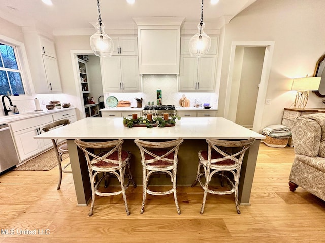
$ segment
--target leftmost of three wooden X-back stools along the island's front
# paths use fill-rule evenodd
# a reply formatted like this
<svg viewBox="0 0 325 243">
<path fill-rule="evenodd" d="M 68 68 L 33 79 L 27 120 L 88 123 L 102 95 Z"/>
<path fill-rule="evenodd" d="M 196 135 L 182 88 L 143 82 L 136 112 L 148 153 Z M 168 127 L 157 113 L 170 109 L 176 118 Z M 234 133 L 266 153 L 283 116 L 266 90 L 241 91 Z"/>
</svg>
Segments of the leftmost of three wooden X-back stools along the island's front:
<svg viewBox="0 0 325 243">
<path fill-rule="evenodd" d="M 76 145 L 84 152 L 88 172 L 90 177 L 91 184 L 91 208 L 89 216 L 92 215 L 93 207 L 95 204 L 95 195 L 99 196 L 114 196 L 122 194 L 126 214 L 129 215 L 128 205 L 126 201 L 125 190 L 129 186 L 129 183 L 132 182 L 134 187 L 136 184 L 133 181 L 129 160 L 131 158 L 131 153 L 129 151 L 122 150 L 122 139 L 108 141 L 108 142 L 84 142 L 80 139 L 76 139 Z M 96 150 L 101 150 L 99 154 L 95 154 Z M 103 151 L 104 150 L 104 151 Z M 128 182 L 124 185 L 124 176 L 126 167 L 128 168 Z M 99 180 L 97 176 L 102 175 Z M 116 192 L 100 192 L 98 187 L 101 181 L 108 175 L 114 175 L 117 177 L 121 184 L 121 190 Z"/>
</svg>

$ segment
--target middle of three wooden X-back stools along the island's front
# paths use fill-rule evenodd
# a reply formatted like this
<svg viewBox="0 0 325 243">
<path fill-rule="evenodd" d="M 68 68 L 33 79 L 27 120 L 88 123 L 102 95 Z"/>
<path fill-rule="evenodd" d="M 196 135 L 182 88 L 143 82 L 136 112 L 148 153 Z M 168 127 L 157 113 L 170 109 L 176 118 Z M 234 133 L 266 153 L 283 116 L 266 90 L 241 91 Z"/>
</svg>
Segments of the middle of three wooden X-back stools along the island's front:
<svg viewBox="0 0 325 243">
<path fill-rule="evenodd" d="M 177 213 L 181 211 L 178 206 L 176 195 L 176 174 L 177 174 L 177 154 L 179 146 L 184 140 L 179 138 L 166 142 L 148 142 L 135 139 L 141 153 L 142 171 L 143 171 L 143 200 L 140 213 L 144 212 L 144 206 L 147 193 L 150 195 L 168 195 L 174 194 Z M 168 191 L 151 191 L 148 189 L 148 180 L 153 173 L 165 173 L 171 177 L 173 188 Z"/>
</svg>

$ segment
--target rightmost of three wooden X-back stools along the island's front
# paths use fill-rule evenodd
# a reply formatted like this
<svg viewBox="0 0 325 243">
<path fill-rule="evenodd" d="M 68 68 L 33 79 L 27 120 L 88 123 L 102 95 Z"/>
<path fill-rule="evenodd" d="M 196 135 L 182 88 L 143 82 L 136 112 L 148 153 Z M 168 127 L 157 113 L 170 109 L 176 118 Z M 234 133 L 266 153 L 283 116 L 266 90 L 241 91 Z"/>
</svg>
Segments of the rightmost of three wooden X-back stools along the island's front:
<svg viewBox="0 0 325 243">
<path fill-rule="evenodd" d="M 192 187 L 194 187 L 199 181 L 201 187 L 204 189 L 203 203 L 200 213 L 203 214 L 207 193 L 217 195 L 228 195 L 234 193 L 237 213 L 240 214 L 238 206 L 238 184 L 240 170 L 245 152 L 250 145 L 255 142 L 255 138 L 239 141 L 208 138 L 206 139 L 206 142 L 208 143 L 208 150 L 199 151 L 197 177 L 192 184 Z M 224 151 L 227 148 L 231 148 L 233 154 L 229 153 L 228 151 Z M 203 167 L 203 172 L 200 172 L 201 167 Z M 232 174 L 232 177 L 229 177 L 225 172 Z M 209 189 L 209 182 L 211 181 L 212 176 L 215 174 L 220 175 L 221 178 L 227 179 L 231 189 L 228 191 L 215 191 Z M 200 180 L 203 175 L 205 177 L 205 183 Z"/>
</svg>

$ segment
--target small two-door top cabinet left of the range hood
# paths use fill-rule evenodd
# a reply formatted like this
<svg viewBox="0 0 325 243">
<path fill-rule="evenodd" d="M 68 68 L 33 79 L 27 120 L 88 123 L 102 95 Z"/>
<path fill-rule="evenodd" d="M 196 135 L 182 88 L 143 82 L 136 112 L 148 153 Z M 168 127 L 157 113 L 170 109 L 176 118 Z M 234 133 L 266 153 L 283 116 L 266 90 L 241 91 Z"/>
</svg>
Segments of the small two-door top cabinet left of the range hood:
<svg viewBox="0 0 325 243">
<path fill-rule="evenodd" d="M 112 37 L 113 55 L 138 55 L 138 38 L 136 36 Z"/>
</svg>

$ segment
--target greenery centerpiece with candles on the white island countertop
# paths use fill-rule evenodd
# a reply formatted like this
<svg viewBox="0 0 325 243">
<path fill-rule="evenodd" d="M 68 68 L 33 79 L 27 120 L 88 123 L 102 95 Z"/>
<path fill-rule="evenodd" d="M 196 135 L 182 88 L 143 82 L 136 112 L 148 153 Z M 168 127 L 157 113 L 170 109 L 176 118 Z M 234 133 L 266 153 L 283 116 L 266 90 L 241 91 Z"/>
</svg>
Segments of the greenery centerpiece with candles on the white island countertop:
<svg viewBox="0 0 325 243">
<path fill-rule="evenodd" d="M 175 125 L 176 119 L 180 120 L 181 117 L 178 115 L 169 117 L 168 120 L 164 120 L 163 117 L 155 117 L 151 121 L 144 117 L 139 117 L 138 119 L 130 119 L 123 117 L 123 124 L 128 128 L 132 128 L 135 125 L 140 125 L 141 127 L 165 127 L 166 125 Z"/>
</svg>

